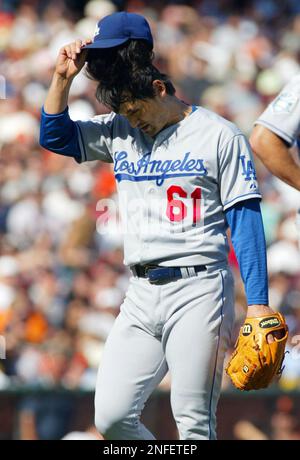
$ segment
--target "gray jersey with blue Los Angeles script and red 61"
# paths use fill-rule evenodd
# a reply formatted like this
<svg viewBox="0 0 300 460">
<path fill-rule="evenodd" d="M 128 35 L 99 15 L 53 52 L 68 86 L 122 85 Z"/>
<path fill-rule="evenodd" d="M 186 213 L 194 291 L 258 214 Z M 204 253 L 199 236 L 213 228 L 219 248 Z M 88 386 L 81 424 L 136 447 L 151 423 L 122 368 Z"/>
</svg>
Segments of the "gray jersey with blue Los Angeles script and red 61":
<svg viewBox="0 0 300 460">
<path fill-rule="evenodd" d="M 155 139 L 111 113 L 77 122 L 82 161 L 114 163 L 125 264 L 226 264 L 224 210 L 260 197 L 245 136 L 196 108 Z"/>
</svg>

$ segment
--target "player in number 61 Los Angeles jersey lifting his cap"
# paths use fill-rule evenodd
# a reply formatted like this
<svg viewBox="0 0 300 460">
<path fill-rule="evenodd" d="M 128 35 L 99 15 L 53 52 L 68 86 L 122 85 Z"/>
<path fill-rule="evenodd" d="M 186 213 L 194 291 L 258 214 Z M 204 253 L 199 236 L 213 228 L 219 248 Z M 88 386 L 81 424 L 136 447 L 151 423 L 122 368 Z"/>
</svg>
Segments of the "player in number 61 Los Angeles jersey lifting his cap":
<svg viewBox="0 0 300 460">
<path fill-rule="evenodd" d="M 98 373 L 99 432 L 106 439 L 154 439 L 140 415 L 169 370 L 180 438 L 215 439 L 234 324 L 228 226 L 247 316 L 273 315 L 261 196 L 245 136 L 179 100 L 153 66 L 152 48 L 147 21 L 124 12 L 103 18 L 92 42 L 62 47 L 42 109 L 40 143 L 78 163 L 112 163 L 127 225 L 124 262 L 132 276 Z M 98 81 L 96 97 L 111 113 L 74 122 L 68 94 L 86 61 Z M 142 203 L 138 212 L 134 200 Z"/>
</svg>

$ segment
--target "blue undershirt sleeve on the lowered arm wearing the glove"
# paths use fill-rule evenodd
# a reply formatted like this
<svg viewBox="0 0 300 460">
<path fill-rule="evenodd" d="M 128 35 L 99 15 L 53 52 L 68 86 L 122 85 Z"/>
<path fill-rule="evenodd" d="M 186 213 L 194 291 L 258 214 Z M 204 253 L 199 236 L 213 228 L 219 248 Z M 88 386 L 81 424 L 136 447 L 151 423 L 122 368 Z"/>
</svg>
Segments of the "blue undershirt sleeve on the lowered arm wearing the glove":
<svg viewBox="0 0 300 460">
<path fill-rule="evenodd" d="M 258 198 L 225 211 L 248 305 L 269 304 L 265 233 Z"/>
</svg>

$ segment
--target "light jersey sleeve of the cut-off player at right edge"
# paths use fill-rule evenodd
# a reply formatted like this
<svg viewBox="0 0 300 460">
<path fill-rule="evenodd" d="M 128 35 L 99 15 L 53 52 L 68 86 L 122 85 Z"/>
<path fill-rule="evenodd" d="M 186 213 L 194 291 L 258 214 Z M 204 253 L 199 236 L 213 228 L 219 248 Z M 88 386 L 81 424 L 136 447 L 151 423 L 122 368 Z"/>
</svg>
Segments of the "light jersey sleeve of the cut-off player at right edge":
<svg viewBox="0 0 300 460">
<path fill-rule="evenodd" d="M 290 146 L 300 134 L 300 75 L 283 88 L 255 124 L 263 125 Z"/>
</svg>

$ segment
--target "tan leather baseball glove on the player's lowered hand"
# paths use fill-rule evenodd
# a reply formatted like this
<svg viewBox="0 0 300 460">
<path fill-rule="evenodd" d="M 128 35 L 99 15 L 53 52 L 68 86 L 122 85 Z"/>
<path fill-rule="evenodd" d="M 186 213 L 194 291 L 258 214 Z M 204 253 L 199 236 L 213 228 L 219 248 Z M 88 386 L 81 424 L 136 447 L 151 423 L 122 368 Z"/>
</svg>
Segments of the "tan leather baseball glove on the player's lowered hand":
<svg viewBox="0 0 300 460">
<path fill-rule="evenodd" d="M 282 372 L 287 338 L 288 327 L 280 313 L 246 318 L 226 367 L 233 385 L 247 391 L 266 388 Z"/>
</svg>

